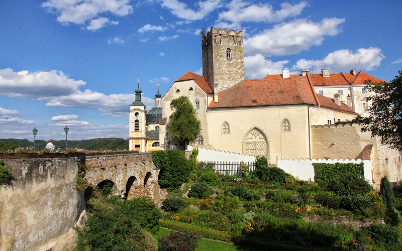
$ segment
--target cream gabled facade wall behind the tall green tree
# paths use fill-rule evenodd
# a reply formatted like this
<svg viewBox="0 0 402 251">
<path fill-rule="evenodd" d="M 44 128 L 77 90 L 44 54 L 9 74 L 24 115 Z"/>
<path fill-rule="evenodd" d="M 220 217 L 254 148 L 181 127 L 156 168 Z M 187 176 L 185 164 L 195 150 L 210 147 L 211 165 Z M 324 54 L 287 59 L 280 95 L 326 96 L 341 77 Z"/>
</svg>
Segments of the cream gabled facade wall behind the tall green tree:
<svg viewBox="0 0 402 251">
<path fill-rule="evenodd" d="M 190 87 L 192 87 L 192 90 L 189 90 Z M 179 89 L 180 92 L 176 92 L 177 89 Z M 199 86 L 193 80 L 174 82 L 170 89 L 162 97 L 162 117 L 168 118 L 172 114 L 170 101 L 180 96 L 187 96 L 194 108 L 195 99 L 199 99 L 199 109 L 196 109 L 197 118 L 201 121 L 201 135 L 204 137 L 204 145 L 208 145 L 209 143 L 206 111 L 209 104 L 208 101 L 211 99 L 211 97 L 208 98 L 207 94 L 201 88 L 199 88 Z M 161 142 L 165 138 L 165 134 L 166 131 L 160 132 L 159 139 L 161 140 Z"/>
</svg>

